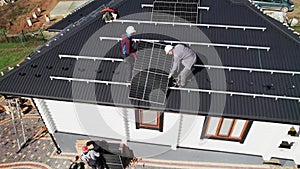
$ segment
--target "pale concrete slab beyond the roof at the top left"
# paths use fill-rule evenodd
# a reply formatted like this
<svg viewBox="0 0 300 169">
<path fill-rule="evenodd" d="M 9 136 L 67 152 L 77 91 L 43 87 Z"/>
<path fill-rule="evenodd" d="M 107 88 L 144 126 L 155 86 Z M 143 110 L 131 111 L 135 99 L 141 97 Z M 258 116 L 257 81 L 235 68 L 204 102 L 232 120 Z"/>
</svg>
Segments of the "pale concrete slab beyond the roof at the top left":
<svg viewBox="0 0 300 169">
<path fill-rule="evenodd" d="M 50 18 L 65 17 L 74 9 L 82 6 L 87 0 L 82 1 L 60 1 L 50 12 Z"/>
</svg>

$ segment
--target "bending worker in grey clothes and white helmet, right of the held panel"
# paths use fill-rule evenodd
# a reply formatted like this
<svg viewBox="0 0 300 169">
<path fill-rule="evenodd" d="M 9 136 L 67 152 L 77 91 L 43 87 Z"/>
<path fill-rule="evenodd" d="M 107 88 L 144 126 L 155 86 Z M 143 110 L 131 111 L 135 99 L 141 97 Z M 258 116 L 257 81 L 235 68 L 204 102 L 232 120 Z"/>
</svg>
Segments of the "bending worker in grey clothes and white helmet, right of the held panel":
<svg viewBox="0 0 300 169">
<path fill-rule="evenodd" d="M 192 49 L 181 44 L 174 47 L 166 45 L 165 52 L 167 55 L 174 55 L 173 66 L 169 78 L 171 78 L 175 71 L 179 69 L 180 62 L 183 64 L 184 69 L 180 72 L 180 87 L 185 87 L 187 78 L 191 73 L 191 68 L 197 61 L 196 53 Z"/>
</svg>

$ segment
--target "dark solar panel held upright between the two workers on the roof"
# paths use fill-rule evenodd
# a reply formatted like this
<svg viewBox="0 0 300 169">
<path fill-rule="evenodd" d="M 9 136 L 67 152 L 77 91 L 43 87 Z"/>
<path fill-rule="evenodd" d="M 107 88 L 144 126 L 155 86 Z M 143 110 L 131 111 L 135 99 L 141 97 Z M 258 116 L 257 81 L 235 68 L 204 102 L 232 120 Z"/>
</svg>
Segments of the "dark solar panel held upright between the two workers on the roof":
<svg viewBox="0 0 300 169">
<path fill-rule="evenodd" d="M 164 47 L 157 43 L 139 44 L 129 98 L 164 104 L 173 59 L 166 55 Z"/>
</svg>

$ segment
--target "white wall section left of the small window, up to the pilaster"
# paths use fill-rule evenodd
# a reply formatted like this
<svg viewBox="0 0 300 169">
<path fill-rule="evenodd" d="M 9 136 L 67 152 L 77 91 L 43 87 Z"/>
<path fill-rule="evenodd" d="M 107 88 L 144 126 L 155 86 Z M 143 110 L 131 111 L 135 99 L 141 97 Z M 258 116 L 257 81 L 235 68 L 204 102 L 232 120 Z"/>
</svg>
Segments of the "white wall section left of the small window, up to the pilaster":
<svg viewBox="0 0 300 169">
<path fill-rule="evenodd" d="M 45 100 L 57 131 L 125 139 L 123 109 L 93 104 Z"/>
</svg>

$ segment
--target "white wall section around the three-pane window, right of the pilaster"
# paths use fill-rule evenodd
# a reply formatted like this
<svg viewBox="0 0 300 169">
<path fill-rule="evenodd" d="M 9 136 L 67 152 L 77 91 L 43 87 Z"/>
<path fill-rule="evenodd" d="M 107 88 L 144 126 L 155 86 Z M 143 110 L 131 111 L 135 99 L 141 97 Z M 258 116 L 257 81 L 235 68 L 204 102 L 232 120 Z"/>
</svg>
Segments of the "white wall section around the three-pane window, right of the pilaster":
<svg viewBox="0 0 300 169">
<path fill-rule="evenodd" d="M 183 116 L 182 128 L 186 133 L 181 135 L 179 142 L 181 147 L 261 155 L 265 160 L 271 157 L 288 158 L 300 164 L 299 137 L 287 135 L 292 125 L 254 121 L 245 142 L 241 144 L 225 140 L 200 139 L 205 117 Z M 292 138 L 295 143 L 291 150 L 278 148 L 281 141 L 290 142 Z"/>
</svg>

